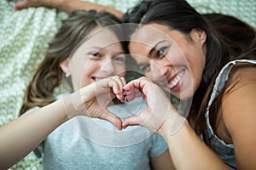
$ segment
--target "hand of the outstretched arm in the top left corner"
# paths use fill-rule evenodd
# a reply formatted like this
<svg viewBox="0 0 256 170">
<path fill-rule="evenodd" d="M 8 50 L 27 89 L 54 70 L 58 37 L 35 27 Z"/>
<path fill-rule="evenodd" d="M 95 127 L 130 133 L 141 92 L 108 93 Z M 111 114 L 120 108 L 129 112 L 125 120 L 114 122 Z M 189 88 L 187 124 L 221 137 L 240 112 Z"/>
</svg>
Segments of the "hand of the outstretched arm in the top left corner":
<svg viewBox="0 0 256 170">
<path fill-rule="evenodd" d="M 67 0 L 21 0 L 15 4 L 15 10 L 29 7 L 60 8 Z"/>
</svg>

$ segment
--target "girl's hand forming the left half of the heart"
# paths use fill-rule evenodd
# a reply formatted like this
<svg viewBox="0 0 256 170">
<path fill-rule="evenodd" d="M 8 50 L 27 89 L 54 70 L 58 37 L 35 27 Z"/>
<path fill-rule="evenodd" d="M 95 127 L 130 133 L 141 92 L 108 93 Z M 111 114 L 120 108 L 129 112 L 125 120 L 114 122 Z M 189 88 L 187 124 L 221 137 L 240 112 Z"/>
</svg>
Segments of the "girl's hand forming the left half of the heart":
<svg viewBox="0 0 256 170">
<path fill-rule="evenodd" d="M 84 115 L 101 118 L 113 123 L 115 127 L 121 130 L 121 119 L 108 111 L 108 105 L 115 96 L 124 102 L 123 87 L 125 84 L 123 77 L 108 77 L 65 96 L 64 101 L 68 116 Z"/>
</svg>

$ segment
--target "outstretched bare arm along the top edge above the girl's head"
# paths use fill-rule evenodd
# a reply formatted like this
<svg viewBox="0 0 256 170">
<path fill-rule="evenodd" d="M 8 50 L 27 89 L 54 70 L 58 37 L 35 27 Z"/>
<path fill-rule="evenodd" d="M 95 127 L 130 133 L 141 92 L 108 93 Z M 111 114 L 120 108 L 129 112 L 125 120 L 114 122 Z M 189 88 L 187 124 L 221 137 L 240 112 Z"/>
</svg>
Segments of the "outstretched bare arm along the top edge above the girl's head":
<svg viewBox="0 0 256 170">
<path fill-rule="evenodd" d="M 22 8 L 41 6 L 49 8 L 58 8 L 62 11 L 67 12 L 67 14 L 72 13 L 73 10 L 76 9 L 96 9 L 97 11 L 106 10 L 109 13 L 115 14 L 119 18 L 123 16 L 123 13 L 115 8 L 103 6 L 96 3 L 84 2 L 81 0 L 22 0 L 15 4 L 15 9 L 20 10 Z"/>
</svg>

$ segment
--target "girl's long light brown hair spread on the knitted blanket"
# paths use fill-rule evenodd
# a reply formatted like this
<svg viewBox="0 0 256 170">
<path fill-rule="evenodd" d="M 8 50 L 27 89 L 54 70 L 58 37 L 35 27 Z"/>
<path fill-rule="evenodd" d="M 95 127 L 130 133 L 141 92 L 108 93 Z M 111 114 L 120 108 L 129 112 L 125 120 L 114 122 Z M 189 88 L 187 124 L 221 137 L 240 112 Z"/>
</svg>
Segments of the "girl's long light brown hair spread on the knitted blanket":
<svg viewBox="0 0 256 170">
<path fill-rule="evenodd" d="M 121 21 L 113 14 L 95 10 L 77 10 L 70 14 L 67 20 L 63 20 L 60 30 L 49 43 L 44 60 L 38 65 L 32 82 L 26 89 L 20 115 L 32 107 L 49 105 L 55 101 L 54 90 L 61 85 L 63 73 L 59 65 L 72 54 L 73 49 L 84 37 L 98 26 L 113 26 L 120 23 Z M 120 36 L 120 31 L 114 32 Z M 126 46 L 123 46 L 125 49 Z"/>
</svg>

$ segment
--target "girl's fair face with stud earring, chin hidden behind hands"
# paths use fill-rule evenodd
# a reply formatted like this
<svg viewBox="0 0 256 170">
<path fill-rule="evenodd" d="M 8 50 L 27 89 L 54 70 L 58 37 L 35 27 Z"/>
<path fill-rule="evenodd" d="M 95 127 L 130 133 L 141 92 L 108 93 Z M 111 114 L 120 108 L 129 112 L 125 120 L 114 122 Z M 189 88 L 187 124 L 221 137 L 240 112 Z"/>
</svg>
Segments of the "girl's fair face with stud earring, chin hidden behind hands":
<svg viewBox="0 0 256 170">
<path fill-rule="evenodd" d="M 125 77 L 125 51 L 113 31 L 97 29 L 61 65 L 78 90 L 106 77 Z"/>
</svg>

